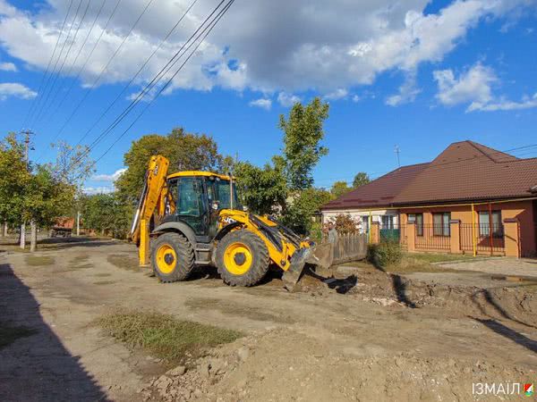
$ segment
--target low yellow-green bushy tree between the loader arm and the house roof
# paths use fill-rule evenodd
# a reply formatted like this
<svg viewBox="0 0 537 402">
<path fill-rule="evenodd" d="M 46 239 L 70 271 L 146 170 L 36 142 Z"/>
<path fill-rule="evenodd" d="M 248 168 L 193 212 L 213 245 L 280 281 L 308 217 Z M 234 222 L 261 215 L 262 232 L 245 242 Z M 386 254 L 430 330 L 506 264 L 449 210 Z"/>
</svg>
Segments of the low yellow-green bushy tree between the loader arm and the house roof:
<svg viewBox="0 0 537 402">
<path fill-rule="evenodd" d="M 311 217 L 333 197 L 322 188 L 306 188 L 290 197 L 282 222 L 298 234 L 306 235 L 311 230 Z"/>
</svg>

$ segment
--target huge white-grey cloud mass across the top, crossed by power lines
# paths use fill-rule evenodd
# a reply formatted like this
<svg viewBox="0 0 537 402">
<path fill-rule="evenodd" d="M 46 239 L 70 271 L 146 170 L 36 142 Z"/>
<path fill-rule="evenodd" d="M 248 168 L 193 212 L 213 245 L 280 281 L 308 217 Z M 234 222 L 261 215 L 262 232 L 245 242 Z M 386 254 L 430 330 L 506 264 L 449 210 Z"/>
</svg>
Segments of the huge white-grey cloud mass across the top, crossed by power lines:
<svg viewBox="0 0 537 402">
<path fill-rule="evenodd" d="M 69 0 L 47 2 L 49 7 L 28 13 L 0 0 L 1 46 L 11 56 L 41 71 L 46 69 L 53 52 Z M 95 80 L 146 3 L 129 0 L 120 4 L 81 76 L 84 85 Z M 160 0 L 158 5 L 152 5 L 102 83 L 130 80 L 190 3 L 191 0 Z M 338 89 L 348 91 L 371 84 L 384 71 L 415 71 L 421 63 L 439 62 L 480 21 L 512 21 L 512 15 L 534 4 L 528 0 L 456 0 L 439 13 L 424 14 L 429 3 L 430 0 L 333 0 L 328 6 L 324 0 L 273 0 L 234 4 L 175 78 L 170 91 L 209 90 L 215 86 L 280 95 L 309 89 L 323 94 Z M 73 49 L 78 49 L 89 33 L 99 4 L 90 3 Z M 72 71 L 84 63 L 114 4 L 107 2 Z M 148 82 L 160 70 L 210 7 L 209 2 L 196 4 L 142 71 L 137 85 Z M 412 100 L 412 91 L 409 94 L 407 99 Z M 391 102 L 402 102 L 404 95 L 399 94 L 400 101 L 394 98 Z M 282 99 L 288 105 L 285 96 Z"/>
</svg>

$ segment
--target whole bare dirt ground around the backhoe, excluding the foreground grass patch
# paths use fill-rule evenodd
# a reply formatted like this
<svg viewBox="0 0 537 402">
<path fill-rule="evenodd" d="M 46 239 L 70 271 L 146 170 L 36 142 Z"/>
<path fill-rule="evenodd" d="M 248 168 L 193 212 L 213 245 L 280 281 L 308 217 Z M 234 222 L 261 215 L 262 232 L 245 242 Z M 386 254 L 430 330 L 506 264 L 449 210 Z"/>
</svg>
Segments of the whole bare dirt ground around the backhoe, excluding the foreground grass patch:
<svg viewBox="0 0 537 402">
<path fill-rule="evenodd" d="M 251 289 L 226 287 L 210 270 L 160 284 L 137 267 L 135 247 L 112 240 L 0 258 L 2 401 L 486 400 L 473 383 L 535 380 L 537 286 L 528 277 L 356 264 L 288 293 L 276 274 Z M 98 327 L 118 309 L 246 337 L 170 373 Z"/>
</svg>

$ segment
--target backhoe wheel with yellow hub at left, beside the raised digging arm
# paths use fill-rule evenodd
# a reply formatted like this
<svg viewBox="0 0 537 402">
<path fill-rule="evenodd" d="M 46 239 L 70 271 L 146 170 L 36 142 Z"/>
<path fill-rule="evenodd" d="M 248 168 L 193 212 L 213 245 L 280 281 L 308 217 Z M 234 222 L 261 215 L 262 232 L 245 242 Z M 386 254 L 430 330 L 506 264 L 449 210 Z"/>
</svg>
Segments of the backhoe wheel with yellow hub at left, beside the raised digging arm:
<svg viewBox="0 0 537 402">
<path fill-rule="evenodd" d="M 151 266 L 162 282 L 185 281 L 194 269 L 192 245 L 179 233 L 161 234 L 151 242 Z"/>
</svg>

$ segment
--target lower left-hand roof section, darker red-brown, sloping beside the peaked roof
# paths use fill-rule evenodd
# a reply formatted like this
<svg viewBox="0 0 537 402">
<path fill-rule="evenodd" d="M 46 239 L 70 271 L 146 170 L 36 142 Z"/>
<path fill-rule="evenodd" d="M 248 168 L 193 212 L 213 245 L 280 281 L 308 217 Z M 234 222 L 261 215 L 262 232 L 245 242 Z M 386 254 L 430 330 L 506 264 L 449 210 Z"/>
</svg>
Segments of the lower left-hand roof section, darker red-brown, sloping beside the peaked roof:
<svg viewBox="0 0 537 402">
<path fill-rule="evenodd" d="M 322 210 L 381 207 L 391 205 L 394 197 L 410 183 L 429 163 L 403 166 L 371 183 L 360 186 L 322 206 Z"/>
</svg>

